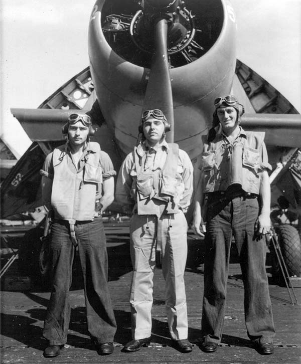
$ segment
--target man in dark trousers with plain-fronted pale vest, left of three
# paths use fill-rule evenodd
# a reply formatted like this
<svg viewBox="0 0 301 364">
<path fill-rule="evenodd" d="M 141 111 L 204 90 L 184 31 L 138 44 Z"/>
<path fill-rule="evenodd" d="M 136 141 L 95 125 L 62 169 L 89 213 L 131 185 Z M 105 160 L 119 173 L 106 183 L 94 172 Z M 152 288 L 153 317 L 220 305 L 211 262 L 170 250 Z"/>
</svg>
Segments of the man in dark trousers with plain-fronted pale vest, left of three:
<svg viewBox="0 0 301 364">
<path fill-rule="evenodd" d="M 67 341 L 72 263 L 78 250 L 83 272 L 87 326 L 99 354 L 113 352 L 116 322 L 107 285 L 107 252 L 101 213 L 114 200 L 113 164 L 96 142 L 84 113 L 73 113 L 62 128 L 66 143 L 45 159 L 44 205 L 52 211 L 49 259 L 51 296 L 43 336 L 44 356 L 54 357 Z"/>
</svg>

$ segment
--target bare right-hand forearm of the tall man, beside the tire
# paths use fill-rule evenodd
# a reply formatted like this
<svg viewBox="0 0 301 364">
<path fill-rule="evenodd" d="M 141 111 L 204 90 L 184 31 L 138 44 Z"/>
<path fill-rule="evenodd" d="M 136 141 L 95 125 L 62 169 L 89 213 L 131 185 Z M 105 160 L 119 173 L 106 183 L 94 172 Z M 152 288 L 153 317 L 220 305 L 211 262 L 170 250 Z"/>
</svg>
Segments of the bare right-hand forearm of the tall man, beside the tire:
<svg viewBox="0 0 301 364">
<path fill-rule="evenodd" d="M 267 170 L 260 172 L 259 196 L 261 200 L 261 211 L 256 222 L 256 232 L 267 234 L 270 230 L 270 204 L 271 190 Z"/>
</svg>

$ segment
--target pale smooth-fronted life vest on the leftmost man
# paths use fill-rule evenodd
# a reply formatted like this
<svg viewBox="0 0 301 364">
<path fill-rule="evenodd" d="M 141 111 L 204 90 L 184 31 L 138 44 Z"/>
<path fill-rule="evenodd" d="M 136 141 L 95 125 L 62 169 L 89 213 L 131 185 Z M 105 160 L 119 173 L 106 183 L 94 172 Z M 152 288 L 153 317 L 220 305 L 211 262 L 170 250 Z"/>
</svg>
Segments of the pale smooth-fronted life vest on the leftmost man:
<svg viewBox="0 0 301 364">
<path fill-rule="evenodd" d="M 95 216 L 97 185 L 102 183 L 99 144 L 89 142 L 84 158 L 83 169 L 75 172 L 68 166 L 64 145 L 53 151 L 51 204 L 55 218 L 68 220 L 70 224 L 74 224 L 74 221 L 90 221 Z"/>
</svg>

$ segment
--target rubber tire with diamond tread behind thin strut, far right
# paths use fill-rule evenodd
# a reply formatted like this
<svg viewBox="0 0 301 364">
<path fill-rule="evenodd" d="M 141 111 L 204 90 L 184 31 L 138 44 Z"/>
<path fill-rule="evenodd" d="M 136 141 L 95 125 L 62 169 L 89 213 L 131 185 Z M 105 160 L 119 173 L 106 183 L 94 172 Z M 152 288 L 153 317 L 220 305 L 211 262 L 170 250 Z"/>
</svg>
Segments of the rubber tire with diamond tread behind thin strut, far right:
<svg viewBox="0 0 301 364">
<path fill-rule="evenodd" d="M 289 276 L 301 276 L 301 240 L 298 231 L 289 224 L 279 226 L 278 242 Z M 276 253 L 272 252 L 272 276 L 280 285 L 284 284 L 283 276 Z"/>
</svg>

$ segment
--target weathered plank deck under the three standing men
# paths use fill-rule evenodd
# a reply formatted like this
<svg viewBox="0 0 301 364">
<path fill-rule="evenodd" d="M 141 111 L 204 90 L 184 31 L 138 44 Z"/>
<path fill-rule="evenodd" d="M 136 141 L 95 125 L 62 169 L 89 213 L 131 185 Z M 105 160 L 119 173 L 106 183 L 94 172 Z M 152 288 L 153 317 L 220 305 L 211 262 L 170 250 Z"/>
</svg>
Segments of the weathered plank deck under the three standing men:
<svg viewBox="0 0 301 364">
<path fill-rule="evenodd" d="M 135 353 L 122 352 L 122 345 L 131 339 L 128 303 L 131 280 L 128 227 L 106 225 L 109 256 L 109 288 L 117 320 L 115 350 L 112 355 L 99 356 L 93 349 L 86 329 L 83 289 L 80 269 L 76 267 L 70 291 L 71 322 L 68 341 L 56 358 L 44 358 L 46 341 L 42 337 L 43 319 L 50 293 L 41 289 L 1 292 L 1 363 L 301 363 L 301 305 L 292 305 L 287 289 L 272 284 L 269 290 L 276 326 L 275 353 L 262 356 L 254 350 L 246 334 L 240 267 L 231 257 L 225 323 L 221 345 L 215 353 L 204 353 L 199 348 L 203 296 L 204 242 L 190 235 L 189 256 L 185 273 L 189 317 L 189 339 L 193 351 L 183 354 L 171 346 L 164 306 L 164 279 L 161 269 L 154 276 L 154 305 L 152 344 Z M 16 265 L 17 266 L 17 265 Z M 269 267 L 267 266 L 269 272 Z M 6 273 L 18 275 L 12 267 Z M 3 288 L 2 288 L 3 289 Z M 301 302 L 301 288 L 295 288 Z"/>
</svg>

